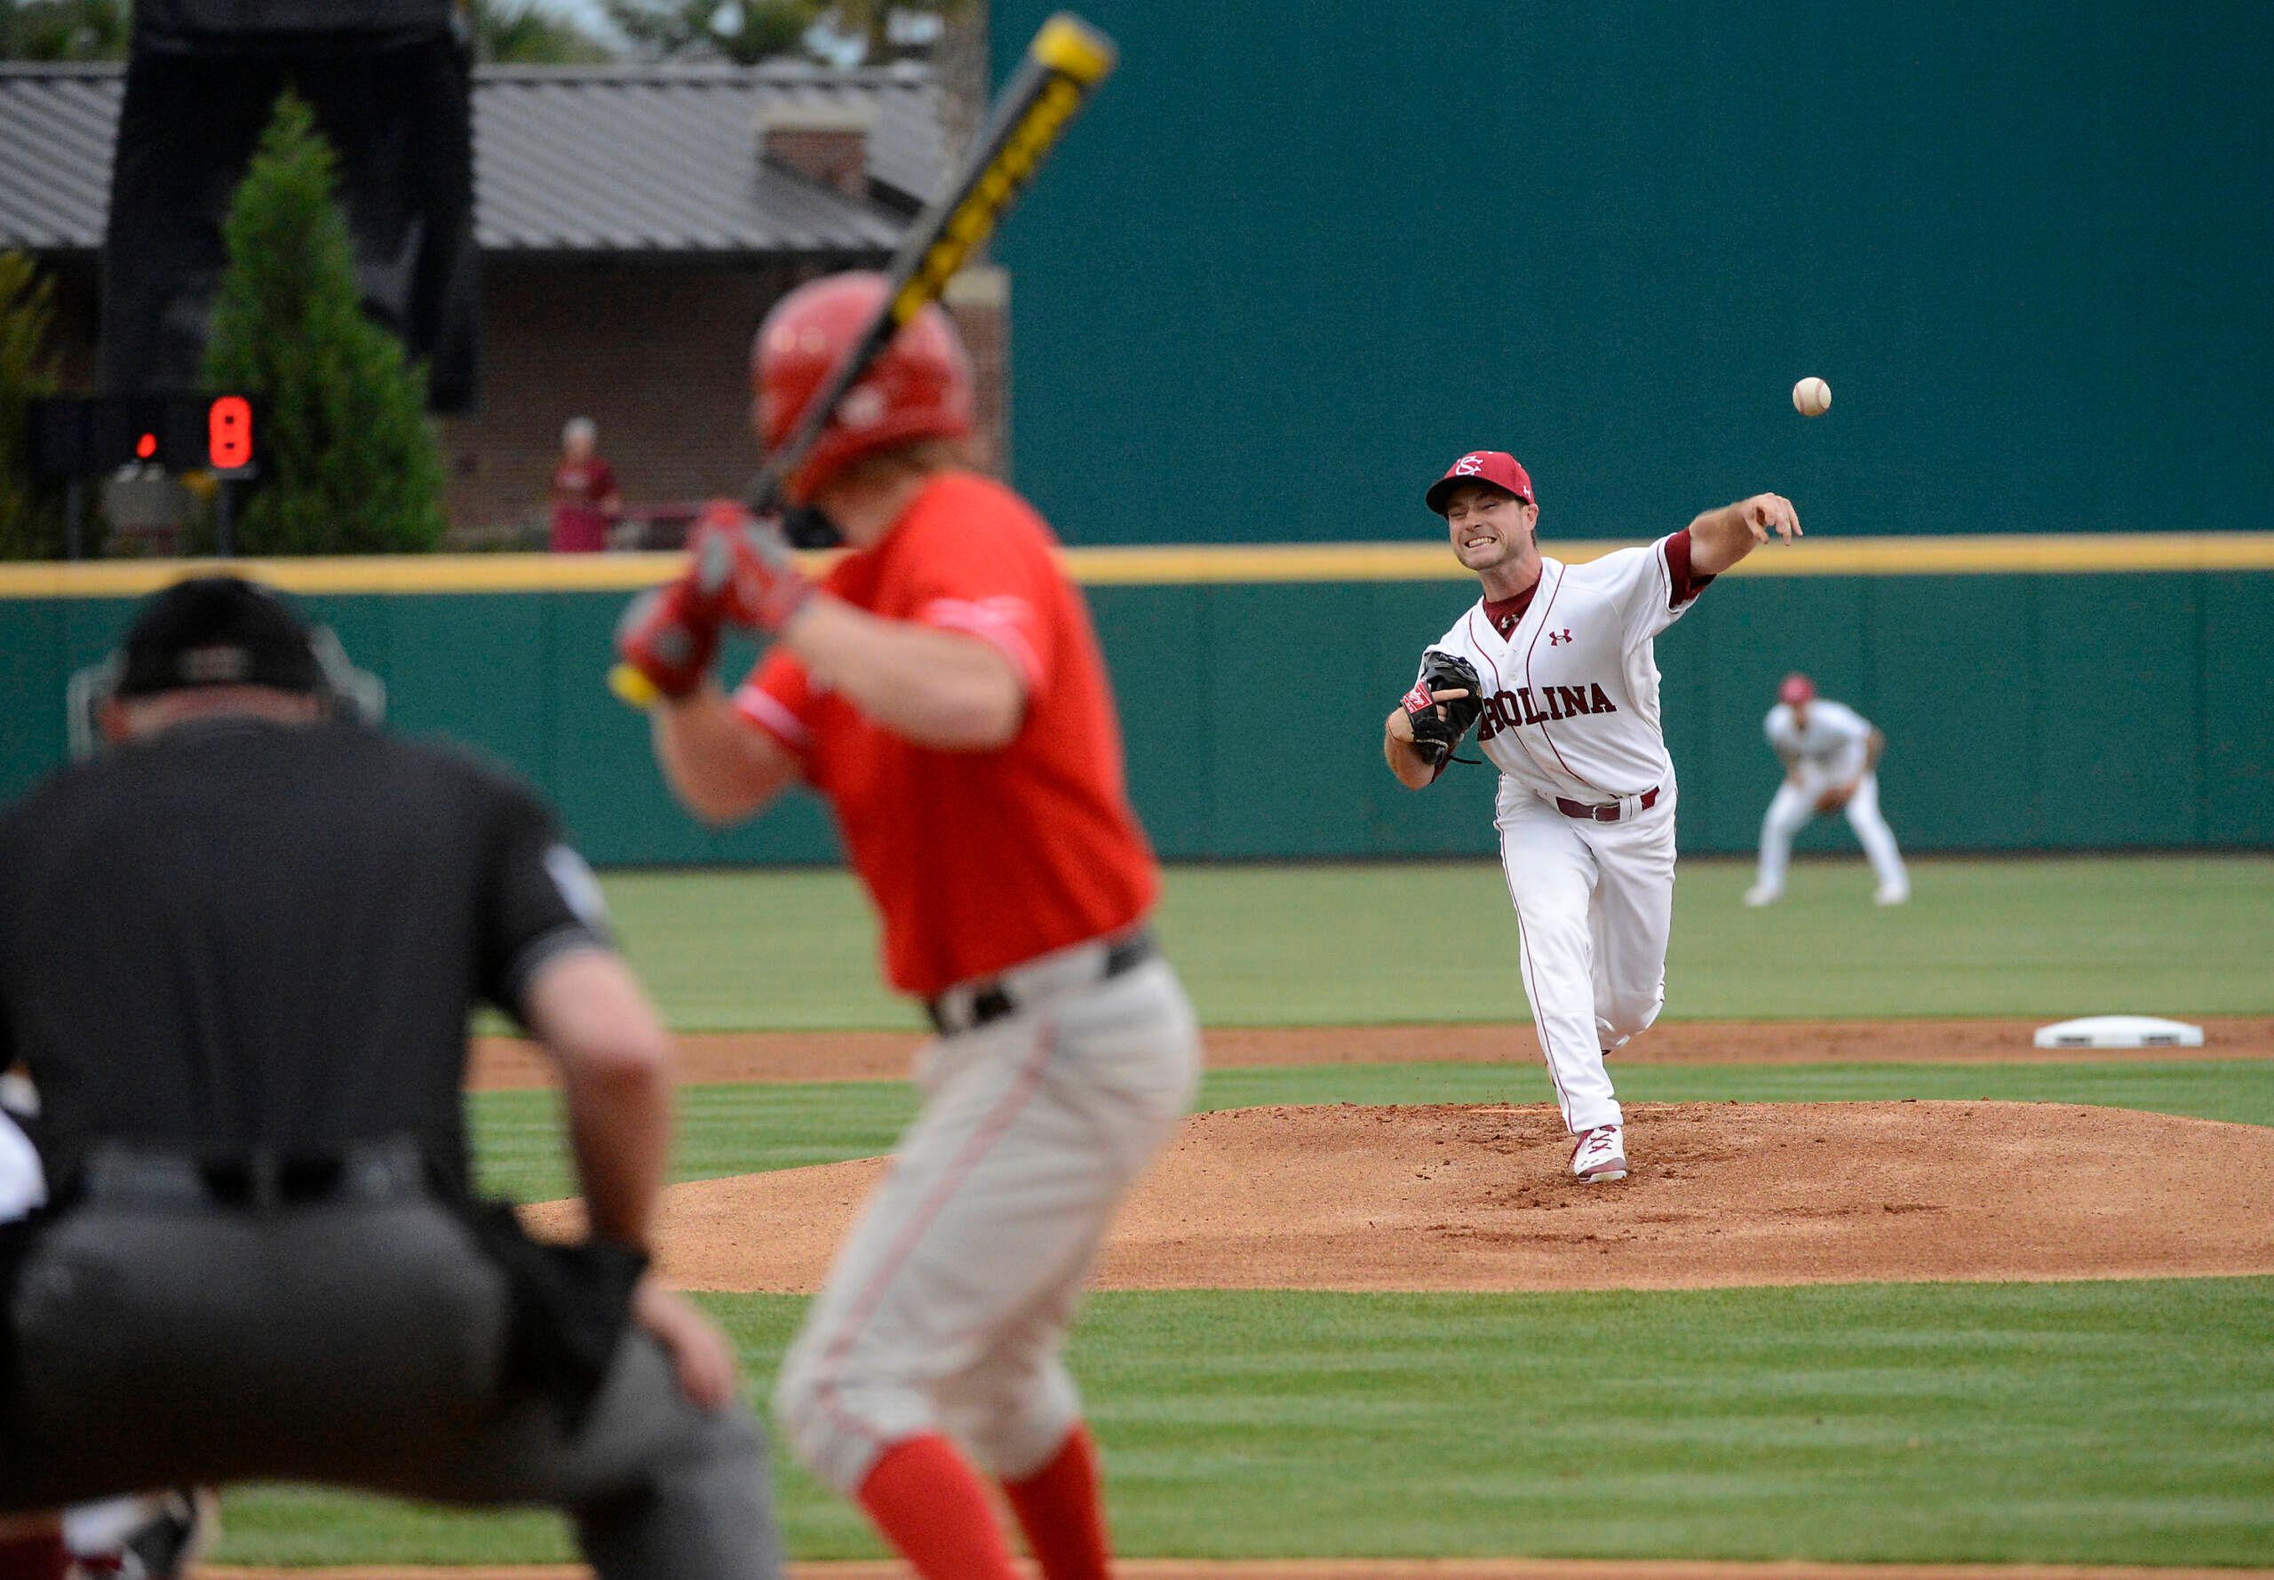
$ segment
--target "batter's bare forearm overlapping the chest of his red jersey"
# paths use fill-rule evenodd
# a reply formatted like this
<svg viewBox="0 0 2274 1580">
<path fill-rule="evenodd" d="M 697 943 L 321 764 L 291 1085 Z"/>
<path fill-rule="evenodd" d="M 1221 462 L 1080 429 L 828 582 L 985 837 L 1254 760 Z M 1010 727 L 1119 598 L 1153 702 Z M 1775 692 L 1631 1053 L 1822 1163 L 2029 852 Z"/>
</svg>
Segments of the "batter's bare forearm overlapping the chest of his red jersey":
<svg viewBox="0 0 2274 1580">
<path fill-rule="evenodd" d="M 905 741 L 948 752 L 1007 746 L 1026 682 L 994 643 L 814 598 L 782 632 L 812 675 Z"/>
</svg>

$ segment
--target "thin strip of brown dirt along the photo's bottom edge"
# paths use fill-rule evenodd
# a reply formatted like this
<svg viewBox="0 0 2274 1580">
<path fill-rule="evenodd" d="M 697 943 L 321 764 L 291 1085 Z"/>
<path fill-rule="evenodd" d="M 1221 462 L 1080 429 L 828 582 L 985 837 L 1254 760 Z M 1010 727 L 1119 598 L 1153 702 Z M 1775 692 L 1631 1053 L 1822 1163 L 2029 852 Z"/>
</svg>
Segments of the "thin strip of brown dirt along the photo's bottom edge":
<svg viewBox="0 0 2274 1580">
<path fill-rule="evenodd" d="M 2117 1564 L 1731 1564 L 1594 1557 L 1298 1557 L 1203 1560 L 1123 1557 L 1123 1580 L 2274 1580 L 2274 1569 L 2138 1569 Z M 196 1580 L 591 1580 L 573 1564 L 518 1569 L 357 1569 L 207 1566 Z M 789 1564 L 789 1580 L 910 1580 L 891 1562 Z M 1035 1573 L 1032 1566 L 1028 1573 Z"/>
</svg>

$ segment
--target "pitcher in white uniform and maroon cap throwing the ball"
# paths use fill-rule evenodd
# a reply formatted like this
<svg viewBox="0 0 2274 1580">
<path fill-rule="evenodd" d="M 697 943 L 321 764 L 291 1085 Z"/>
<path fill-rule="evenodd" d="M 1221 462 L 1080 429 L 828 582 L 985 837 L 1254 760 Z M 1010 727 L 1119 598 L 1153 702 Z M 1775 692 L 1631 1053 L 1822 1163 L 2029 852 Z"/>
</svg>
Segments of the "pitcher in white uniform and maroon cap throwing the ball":
<svg viewBox="0 0 2274 1580">
<path fill-rule="evenodd" d="M 1626 1134 L 1603 1055 L 1658 1018 L 1674 923 L 1674 762 L 1658 727 L 1651 639 L 1715 575 L 1801 532 L 1776 493 L 1710 509 L 1649 548 L 1587 564 L 1539 552 L 1533 480 L 1476 450 L 1424 496 L 1483 598 L 1421 655 L 1383 757 L 1433 784 L 1476 725 L 1501 771 L 1501 866 L 1517 907 L 1524 993 L 1578 1137 L 1571 1173 L 1624 1180 Z"/>
</svg>

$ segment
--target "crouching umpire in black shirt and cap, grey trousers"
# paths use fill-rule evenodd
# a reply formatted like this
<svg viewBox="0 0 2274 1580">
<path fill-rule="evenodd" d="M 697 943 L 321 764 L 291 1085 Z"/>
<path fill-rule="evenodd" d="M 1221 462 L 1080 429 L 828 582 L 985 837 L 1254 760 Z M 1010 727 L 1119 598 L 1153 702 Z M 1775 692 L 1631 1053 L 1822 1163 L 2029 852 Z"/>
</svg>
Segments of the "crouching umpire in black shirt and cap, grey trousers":
<svg viewBox="0 0 2274 1580">
<path fill-rule="evenodd" d="M 550 1503 L 605 1580 L 771 1580 L 725 1339 L 644 1271 L 669 1041 L 521 789 L 332 716 L 309 627 L 150 598 L 116 750 L 0 816 L 0 1066 L 50 1205 L 0 1241 L 0 1528 L 314 1480 Z M 468 1189 L 468 1012 L 557 1062 L 591 1219 Z"/>
</svg>

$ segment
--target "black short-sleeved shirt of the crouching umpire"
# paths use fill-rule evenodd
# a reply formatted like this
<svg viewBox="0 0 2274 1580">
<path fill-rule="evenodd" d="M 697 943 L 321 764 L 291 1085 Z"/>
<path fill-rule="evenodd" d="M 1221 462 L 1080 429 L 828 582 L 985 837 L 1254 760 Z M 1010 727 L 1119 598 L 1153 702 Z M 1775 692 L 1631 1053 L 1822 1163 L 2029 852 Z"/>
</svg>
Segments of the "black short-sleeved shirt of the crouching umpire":
<svg viewBox="0 0 2274 1580">
<path fill-rule="evenodd" d="M 598 891 L 518 787 L 357 725 L 214 718 L 0 816 L 0 1066 L 68 1196 L 105 1139 L 214 1162 L 412 1134 L 466 1189 L 478 1003 L 605 943 Z"/>
</svg>

